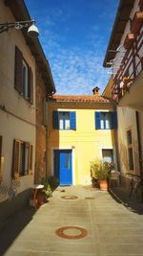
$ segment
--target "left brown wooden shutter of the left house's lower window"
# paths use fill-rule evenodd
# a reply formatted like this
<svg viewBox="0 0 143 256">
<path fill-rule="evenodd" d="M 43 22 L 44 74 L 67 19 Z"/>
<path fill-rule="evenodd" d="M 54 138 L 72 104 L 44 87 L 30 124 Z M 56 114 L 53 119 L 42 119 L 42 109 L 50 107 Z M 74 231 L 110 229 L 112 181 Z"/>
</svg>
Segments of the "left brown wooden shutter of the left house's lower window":
<svg viewBox="0 0 143 256">
<path fill-rule="evenodd" d="M 13 142 L 13 164 L 12 164 L 12 178 L 19 177 L 20 168 L 20 141 Z"/>
</svg>

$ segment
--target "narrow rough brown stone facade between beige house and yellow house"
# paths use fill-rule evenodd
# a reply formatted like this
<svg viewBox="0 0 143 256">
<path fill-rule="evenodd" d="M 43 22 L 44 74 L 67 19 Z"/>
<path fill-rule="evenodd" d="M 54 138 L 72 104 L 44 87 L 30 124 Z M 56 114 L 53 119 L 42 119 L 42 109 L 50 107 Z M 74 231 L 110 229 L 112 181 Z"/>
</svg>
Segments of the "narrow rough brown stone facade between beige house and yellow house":
<svg viewBox="0 0 143 256">
<path fill-rule="evenodd" d="M 36 111 L 36 148 L 35 148 L 35 175 L 34 182 L 40 183 L 41 176 L 48 176 L 48 123 L 47 123 L 47 105 L 46 97 L 55 93 L 55 86 L 51 76 L 51 69 L 47 62 L 45 77 L 43 77 L 43 68 L 36 64 L 36 94 L 35 94 L 35 111 Z M 45 82 L 46 81 L 46 82 Z"/>
</svg>

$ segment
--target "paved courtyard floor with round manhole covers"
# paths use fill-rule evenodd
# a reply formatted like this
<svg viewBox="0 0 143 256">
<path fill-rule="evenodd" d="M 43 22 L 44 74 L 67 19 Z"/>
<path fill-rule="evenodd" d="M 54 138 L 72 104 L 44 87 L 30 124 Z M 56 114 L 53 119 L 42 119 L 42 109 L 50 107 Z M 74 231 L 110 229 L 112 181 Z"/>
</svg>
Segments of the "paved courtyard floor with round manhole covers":
<svg viewBox="0 0 143 256">
<path fill-rule="evenodd" d="M 89 186 L 59 187 L 36 213 L 27 209 L 8 222 L 1 231 L 0 252 L 7 256 L 143 255 L 143 215 L 133 213 L 108 192 Z"/>
</svg>

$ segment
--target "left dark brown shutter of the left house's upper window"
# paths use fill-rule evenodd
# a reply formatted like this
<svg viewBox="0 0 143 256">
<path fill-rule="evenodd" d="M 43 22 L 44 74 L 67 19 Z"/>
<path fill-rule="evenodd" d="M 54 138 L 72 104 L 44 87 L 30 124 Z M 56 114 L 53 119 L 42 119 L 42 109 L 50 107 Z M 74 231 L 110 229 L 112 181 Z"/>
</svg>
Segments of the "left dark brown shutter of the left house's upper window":
<svg viewBox="0 0 143 256">
<path fill-rule="evenodd" d="M 23 82 L 22 82 L 22 53 L 15 46 L 15 78 L 14 78 L 14 87 L 17 91 L 23 92 Z"/>
</svg>

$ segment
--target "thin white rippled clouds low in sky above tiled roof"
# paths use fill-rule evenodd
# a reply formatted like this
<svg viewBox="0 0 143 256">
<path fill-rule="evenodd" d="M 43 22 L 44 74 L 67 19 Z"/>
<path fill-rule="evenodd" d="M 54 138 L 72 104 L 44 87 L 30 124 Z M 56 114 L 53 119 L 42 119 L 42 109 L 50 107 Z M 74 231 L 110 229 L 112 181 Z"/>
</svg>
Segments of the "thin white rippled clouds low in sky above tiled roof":
<svg viewBox="0 0 143 256">
<path fill-rule="evenodd" d="M 51 60 L 51 70 L 57 94 L 92 94 L 95 85 L 103 90 L 107 83 L 102 58 L 93 51 L 59 50 Z"/>
</svg>

